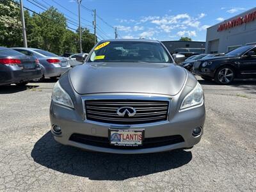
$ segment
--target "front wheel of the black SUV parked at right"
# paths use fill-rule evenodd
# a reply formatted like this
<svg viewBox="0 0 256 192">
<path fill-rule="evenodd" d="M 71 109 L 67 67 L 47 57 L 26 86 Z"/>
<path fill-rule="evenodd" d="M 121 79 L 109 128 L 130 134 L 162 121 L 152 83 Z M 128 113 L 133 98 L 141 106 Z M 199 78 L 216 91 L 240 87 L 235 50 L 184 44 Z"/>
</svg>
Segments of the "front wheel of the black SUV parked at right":
<svg viewBox="0 0 256 192">
<path fill-rule="evenodd" d="M 234 77 L 234 69 L 228 66 L 223 66 L 214 74 L 214 81 L 218 84 L 230 84 L 234 80 Z"/>
</svg>

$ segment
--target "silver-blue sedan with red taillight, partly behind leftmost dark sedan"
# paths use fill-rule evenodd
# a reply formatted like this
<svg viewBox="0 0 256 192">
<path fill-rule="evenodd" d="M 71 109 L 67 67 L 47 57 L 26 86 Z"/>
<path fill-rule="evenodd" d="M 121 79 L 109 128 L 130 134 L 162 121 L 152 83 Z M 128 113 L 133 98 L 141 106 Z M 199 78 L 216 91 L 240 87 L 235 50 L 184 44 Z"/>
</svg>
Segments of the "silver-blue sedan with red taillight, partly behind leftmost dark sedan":
<svg viewBox="0 0 256 192">
<path fill-rule="evenodd" d="M 24 47 L 13 47 L 12 49 L 28 56 L 35 56 L 38 58 L 43 70 L 43 76 L 40 79 L 35 79 L 35 81 L 41 81 L 44 77 L 55 79 L 70 69 L 67 58 L 60 57 L 52 52 Z"/>
</svg>

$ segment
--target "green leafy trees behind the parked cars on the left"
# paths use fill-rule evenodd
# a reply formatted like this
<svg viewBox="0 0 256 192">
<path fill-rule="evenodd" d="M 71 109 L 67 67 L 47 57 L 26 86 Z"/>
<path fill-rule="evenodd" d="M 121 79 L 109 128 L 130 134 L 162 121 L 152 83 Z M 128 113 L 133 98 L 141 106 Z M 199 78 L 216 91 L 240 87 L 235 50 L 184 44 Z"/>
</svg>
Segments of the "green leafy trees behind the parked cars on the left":
<svg viewBox="0 0 256 192">
<path fill-rule="evenodd" d="M 79 30 L 67 29 L 67 19 L 56 8 L 49 8 L 37 15 L 24 11 L 28 47 L 44 49 L 56 54 L 79 52 Z M 0 46 L 22 47 L 22 26 L 19 5 L 9 0 L 0 0 Z M 83 52 L 89 52 L 94 36 L 82 28 Z"/>
</svg>

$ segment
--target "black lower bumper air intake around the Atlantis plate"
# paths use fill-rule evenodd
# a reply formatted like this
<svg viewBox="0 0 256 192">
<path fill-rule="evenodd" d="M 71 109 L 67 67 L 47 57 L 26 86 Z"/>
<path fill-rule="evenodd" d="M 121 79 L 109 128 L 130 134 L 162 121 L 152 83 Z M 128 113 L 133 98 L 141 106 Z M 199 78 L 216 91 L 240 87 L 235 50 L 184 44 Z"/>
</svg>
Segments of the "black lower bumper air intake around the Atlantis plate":
<svg viewBox="0 0 256 192">
<path fill-rule="evenodd" d="M 145 138 L 143 140 L 143 145 L 136 146 L 136 147 L 110 145 L 108 138 L 103 138 L 99 136 L 89 136 L 84 134 L 72 134 L 69 140 L 75 141 L 77 143 L 83 143 L 85 145 L 93 145 L 96 147 L 105 147 L 105 148 L 118 148 L 118 149 L 153 148 L 153 147 L 162 147 L 166 145 L 173 145 L 176 143 L 184 142 L 184 139 L 180 135 L 164 136 L 164 137 L 158 137 L 158 138 Z"/>
</svg>

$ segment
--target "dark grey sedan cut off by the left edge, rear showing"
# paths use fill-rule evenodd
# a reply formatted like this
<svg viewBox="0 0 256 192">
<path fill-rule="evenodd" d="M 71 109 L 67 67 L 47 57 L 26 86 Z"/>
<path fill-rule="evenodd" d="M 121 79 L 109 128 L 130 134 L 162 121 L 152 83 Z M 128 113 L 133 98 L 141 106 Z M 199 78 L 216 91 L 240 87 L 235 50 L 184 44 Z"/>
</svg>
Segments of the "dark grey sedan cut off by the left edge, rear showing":
<svg viewBox="0 0 256 192">
<path fill-rule="evenodd" d="M 15 83 L 20 86 L 42 77 L 42 69 L 35 57 L 0 47 L 0 85 Z"/>
</svg>

